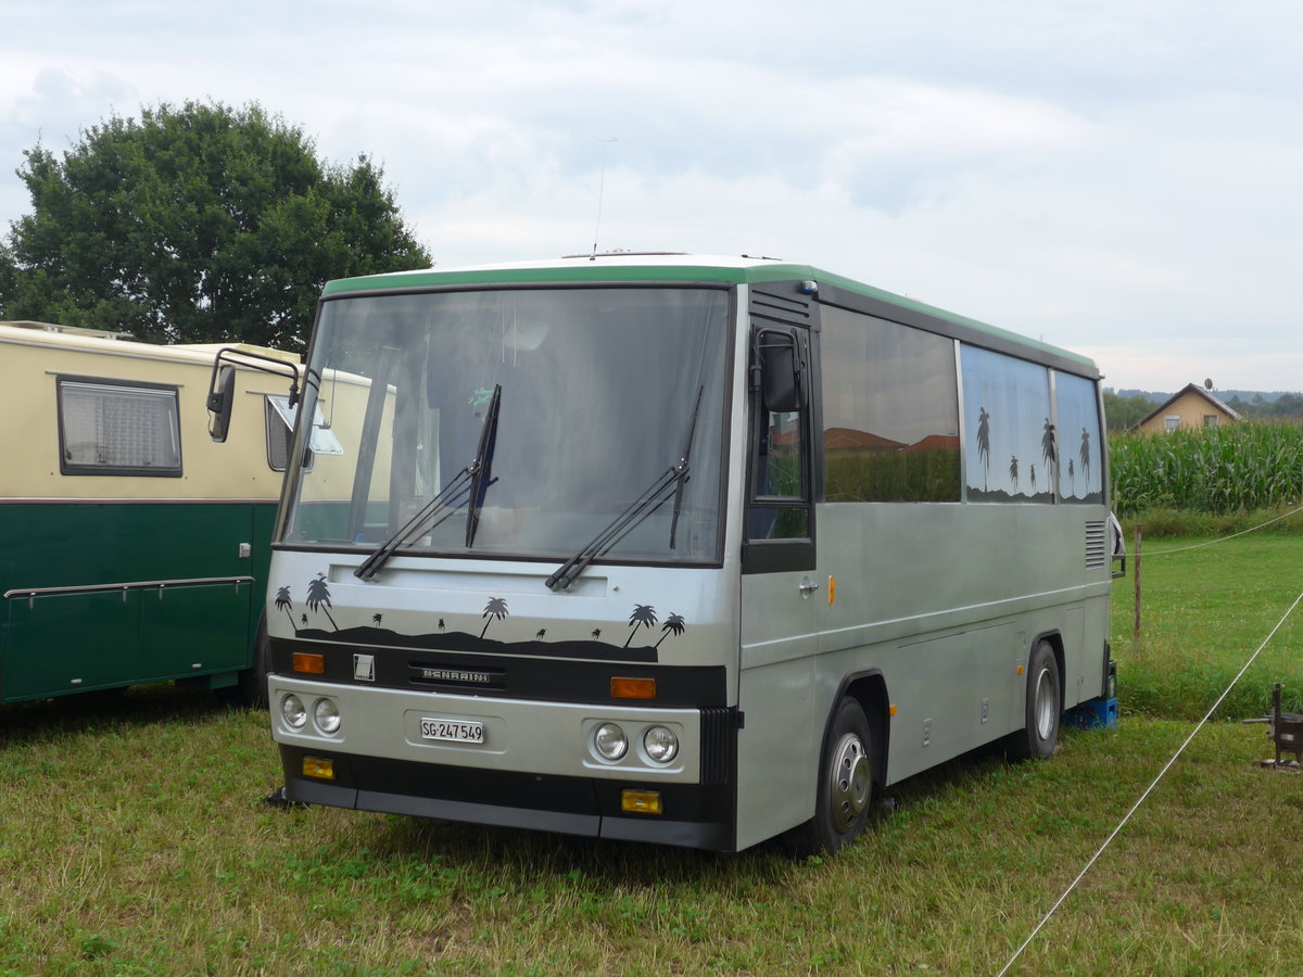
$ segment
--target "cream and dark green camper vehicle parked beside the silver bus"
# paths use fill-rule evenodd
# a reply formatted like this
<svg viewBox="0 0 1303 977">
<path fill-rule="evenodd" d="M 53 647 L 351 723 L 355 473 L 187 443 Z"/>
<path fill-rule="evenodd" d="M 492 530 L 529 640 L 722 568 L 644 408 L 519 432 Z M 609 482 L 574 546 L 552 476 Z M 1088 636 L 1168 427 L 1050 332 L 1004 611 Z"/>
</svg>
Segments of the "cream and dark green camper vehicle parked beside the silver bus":
<svg viewBox="0 0 1303 977">
<path fill-rule="evenodd" d="M 214 345 L 0 323 L 0 702 L 158 681 L 265 700 L 259 627 L 294 412 L 232 374 L 237 446 L 205 426 Z M 237 349 L 293 373 L 300 357 Z"/>
</svg>

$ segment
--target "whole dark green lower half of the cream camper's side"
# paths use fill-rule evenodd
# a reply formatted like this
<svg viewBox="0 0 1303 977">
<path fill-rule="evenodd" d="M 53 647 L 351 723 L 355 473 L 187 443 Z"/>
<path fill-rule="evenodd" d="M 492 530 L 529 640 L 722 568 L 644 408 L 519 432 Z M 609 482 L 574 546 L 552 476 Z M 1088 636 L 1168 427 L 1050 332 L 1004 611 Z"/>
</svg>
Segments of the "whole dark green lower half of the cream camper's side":
<svg viewBox="0 0 1303 977">
<path fill-rule="evenodd" d="M 0 594 L 12 593 L 0 608 L 0 701 L 248 667 L 274 516 L 266 502 L 0 500 Z M 162 602 L 156 588 L 133 588 L 125 604 L 122 590 L 23 593 L 211 577 L 254 582 L 173 586 Z"/>
</svg>

